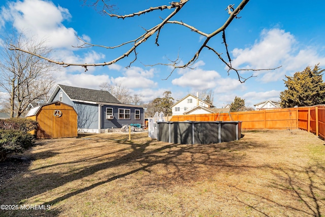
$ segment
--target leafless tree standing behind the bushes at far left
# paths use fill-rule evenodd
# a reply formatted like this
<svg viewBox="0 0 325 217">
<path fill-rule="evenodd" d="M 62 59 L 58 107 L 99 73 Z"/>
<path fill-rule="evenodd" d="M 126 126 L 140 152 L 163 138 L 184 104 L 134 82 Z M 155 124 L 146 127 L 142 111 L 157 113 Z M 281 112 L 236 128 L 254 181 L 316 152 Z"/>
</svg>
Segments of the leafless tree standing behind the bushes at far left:
<svg viewBox="0 0 325 217">
<path fill-rule="evenodd" d="M 14 45 L 28 52 L 8 49 Z M 23 33 L 7 36 L 2 41 L 0 88 L 10 94 L 10 116 L 19 117 L 31 102 L 45 101 L 55 84 L 52 75 L 57 65 L 30 53 L 47 56 L 51 51 L 44 41 L 26 39 Z"/>
</svg>

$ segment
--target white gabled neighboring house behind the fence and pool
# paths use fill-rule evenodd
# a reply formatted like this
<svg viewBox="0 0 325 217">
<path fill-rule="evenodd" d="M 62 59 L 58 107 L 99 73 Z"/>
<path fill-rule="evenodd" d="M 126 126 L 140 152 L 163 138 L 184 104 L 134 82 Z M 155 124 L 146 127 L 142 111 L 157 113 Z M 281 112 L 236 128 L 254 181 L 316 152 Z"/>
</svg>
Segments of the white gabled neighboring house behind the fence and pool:
<svg viewBox="0 0 325 217">
<path fill-rule="evenodd" d="M 198 107 L 199 106 L 199 107 Z M 199 97 L 188 94 L 186 97 L 179 100 L 177 103 L 172 105 L 173 115 L 182 115 L 189 110 L 196 108 L 195 111 L 200 112 L 201 108 L 211 108 L 213 105 L 201 100 Z M 193 111 L 194 112 L 194 111 Z M 202 109 L 202 112 L 207 112 L 205 109 Z M 206 114 L 206 113 L 197 113 L 197 114 Z"/>
</svg>

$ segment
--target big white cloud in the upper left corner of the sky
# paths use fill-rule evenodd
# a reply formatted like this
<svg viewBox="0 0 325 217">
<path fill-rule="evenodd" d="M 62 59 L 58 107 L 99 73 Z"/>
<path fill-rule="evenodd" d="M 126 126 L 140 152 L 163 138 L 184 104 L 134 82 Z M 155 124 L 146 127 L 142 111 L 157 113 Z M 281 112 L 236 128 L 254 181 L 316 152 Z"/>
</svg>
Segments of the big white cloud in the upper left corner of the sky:
<svg viewBox="0 0 325 217">
<path fill-rule="evenodd" d="M 52 2 L 41 0 L 24 0 L 11 2 L 8 8 L 2 8 L 0 18 L 12 22 L 13 26 L 28 36 L 37 36 L 45 39 L 50 47 L 73 49 L 79 40 L 73 28 L 67 28 L 62 24 L 70 19 L 68 9 L 56 7 Z M 1 20 L 0 19 L 0 20 Z M 84 36 L 84 38 L 86 38 Z"/>
</svg>

